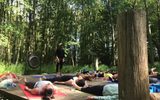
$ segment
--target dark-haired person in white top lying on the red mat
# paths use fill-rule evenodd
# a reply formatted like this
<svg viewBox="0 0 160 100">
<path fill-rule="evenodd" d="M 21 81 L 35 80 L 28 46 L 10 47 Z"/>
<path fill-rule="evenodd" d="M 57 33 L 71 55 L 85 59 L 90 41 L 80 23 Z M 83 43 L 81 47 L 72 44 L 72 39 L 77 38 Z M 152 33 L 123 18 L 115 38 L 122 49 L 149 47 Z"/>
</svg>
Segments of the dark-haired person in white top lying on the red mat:
<svg viewBox="0 0 160 100">
<path fill-rule="evenodd" d="M 25 90 L 33 95 L 42 95 L 43 100 L 51 100 L 54 98 L 54 93 L 58 89 L 50 81 L 40 80 L 37 82 L 27 82 L 25 81 Z"/>
</svg>

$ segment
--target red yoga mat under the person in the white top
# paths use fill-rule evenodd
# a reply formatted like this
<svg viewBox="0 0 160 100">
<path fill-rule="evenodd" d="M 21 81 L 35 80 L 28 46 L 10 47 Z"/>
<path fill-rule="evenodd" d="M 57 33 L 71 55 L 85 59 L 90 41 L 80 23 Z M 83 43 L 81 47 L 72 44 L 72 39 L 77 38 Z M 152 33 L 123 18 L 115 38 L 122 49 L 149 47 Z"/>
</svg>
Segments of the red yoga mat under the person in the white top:
<svg viewBox="0 0 160 100">
<path fill-rule="evenodd" d="M 40 95 L 33 95 L 31 93 L 29 93 L 28 91 L 25 90 L 25 85 L 24 84 L 19 84 L 21 90 L 23 91 L 23 93 L 26 95 L 26 97 L 29 99 L 29 100 L 33 100 L 33 99 L 41 99 L 42 96 Z M 56 90 L 54 96 L 66 96 L 66 94 Z"/>
</svg>

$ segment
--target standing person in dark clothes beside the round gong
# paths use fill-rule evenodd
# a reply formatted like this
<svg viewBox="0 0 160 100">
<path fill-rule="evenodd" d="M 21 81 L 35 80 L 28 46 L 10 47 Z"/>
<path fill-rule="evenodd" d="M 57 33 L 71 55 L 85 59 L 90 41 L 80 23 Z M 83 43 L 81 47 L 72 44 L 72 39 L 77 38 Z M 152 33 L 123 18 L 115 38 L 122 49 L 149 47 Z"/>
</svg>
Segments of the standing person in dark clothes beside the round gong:
<svg viewBox="0 0 160 100">
<path fill-rule="evenodd" d="M 63 63 L 64 63 L 64 57 L 65 57 L 65 52 L 63 49 L 63 45 L 62 43 L 59 43 L 57 50 L 56 50 L 56 73 L 58 73 L 59 75 L 61 75 L 61 70 L 63 67 Z"/>
</svg>

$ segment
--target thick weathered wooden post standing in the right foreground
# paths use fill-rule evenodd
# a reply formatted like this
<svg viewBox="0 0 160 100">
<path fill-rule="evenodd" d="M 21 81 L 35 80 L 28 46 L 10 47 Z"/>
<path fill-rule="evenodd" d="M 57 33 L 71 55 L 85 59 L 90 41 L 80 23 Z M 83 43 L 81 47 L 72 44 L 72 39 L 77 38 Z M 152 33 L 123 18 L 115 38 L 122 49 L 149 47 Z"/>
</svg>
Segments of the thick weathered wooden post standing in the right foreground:
<svg viewBox="0 0 160 100">
<path fill-rule="evenodd" d="M 118 16 L 120 100 L 149 100 L 146 13 L 130 10 Z"/>
</svg>

